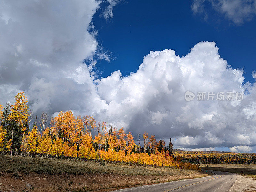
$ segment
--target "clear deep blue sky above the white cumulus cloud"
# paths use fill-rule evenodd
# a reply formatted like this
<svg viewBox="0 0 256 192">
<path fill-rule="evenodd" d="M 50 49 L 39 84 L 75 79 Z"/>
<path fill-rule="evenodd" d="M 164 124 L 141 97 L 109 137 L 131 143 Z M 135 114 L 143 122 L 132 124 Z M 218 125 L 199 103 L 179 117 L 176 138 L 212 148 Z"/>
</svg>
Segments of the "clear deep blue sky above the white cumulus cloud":
<svg viewBox="0 0 256 192">
<path fill-rule="evenodd" d="M 98 61 L 102 77 L 120 70 L 124 76 L 136 72 L 151 50 L 175 50 L 186 55 L 200 41 L 214 41 L 220 56 L 232 68 L 243 68 L 245 82 L 254 81 L 256 20 L 236 24 L 206 4 L 208 18 L 194 14 L 191 1 L 126 1 L 113 7 L 114 17 L 101 12 L 92 19 L 97 40 L 112 53 L 110 62 Z"/>
</svg>

